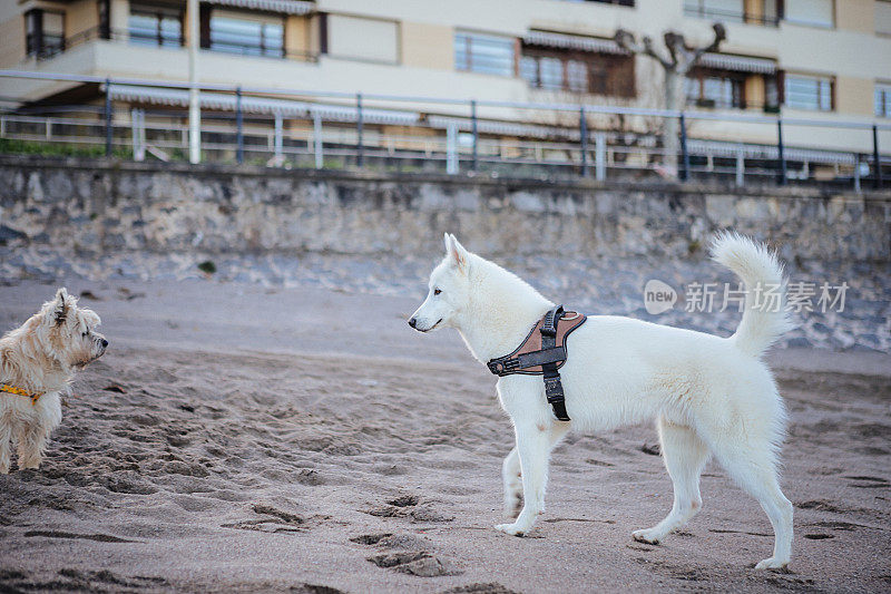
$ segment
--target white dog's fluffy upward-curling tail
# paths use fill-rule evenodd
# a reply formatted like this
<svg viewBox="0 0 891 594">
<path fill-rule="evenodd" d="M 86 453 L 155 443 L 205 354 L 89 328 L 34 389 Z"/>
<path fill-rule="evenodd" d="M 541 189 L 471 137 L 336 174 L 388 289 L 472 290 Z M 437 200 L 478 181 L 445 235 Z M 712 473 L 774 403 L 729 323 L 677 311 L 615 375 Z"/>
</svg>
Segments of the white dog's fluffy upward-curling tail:
<svg viewBox="0 0 891 594">
<path fill-rule="evenodd" d="M 783 266 L 766 245 L 734 232 L 715 237 L 712 257 L 745 283 L 745 311 L 732 340 L 743 352 L 758 357 L 792 329 L 785 311 Z"/>
</svg>

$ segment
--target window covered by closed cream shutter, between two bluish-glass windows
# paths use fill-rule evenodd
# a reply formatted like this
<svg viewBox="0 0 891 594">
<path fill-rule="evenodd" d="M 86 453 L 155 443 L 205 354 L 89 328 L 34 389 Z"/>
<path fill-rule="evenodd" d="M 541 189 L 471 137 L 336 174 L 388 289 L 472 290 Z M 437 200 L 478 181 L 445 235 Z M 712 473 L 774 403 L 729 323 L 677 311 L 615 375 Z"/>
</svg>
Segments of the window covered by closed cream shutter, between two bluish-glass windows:
<svg viewBox="0 0 891 594">
<path fill-rule="evenodd" d="M 398 31 L 395 21 L 329 14 L 327 53 L 335 58 L 396 64 Z"/>
</svg>

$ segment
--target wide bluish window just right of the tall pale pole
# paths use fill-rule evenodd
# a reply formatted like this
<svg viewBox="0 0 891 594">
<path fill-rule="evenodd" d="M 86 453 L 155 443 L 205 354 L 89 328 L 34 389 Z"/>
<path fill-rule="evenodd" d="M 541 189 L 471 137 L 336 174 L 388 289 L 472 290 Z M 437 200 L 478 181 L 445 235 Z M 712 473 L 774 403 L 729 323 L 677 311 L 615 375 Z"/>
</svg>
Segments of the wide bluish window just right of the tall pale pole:
<svg viewBox="0 0 891 594">
<path fill-rule="evenodd" d="M 284 56 L 284 19 L 247 12 L 210 13 L 210 49 L 244 56 Z"/>
</svg>

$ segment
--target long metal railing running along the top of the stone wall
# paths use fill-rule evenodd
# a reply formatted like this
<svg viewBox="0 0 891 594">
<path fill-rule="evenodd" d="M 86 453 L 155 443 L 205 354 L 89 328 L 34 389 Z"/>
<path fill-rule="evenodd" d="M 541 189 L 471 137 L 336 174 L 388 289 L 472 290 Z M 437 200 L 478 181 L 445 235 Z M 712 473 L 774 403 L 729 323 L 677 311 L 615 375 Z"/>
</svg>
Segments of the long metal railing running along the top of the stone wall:
<svg viewBox="0 0 891 594">
<path fill-rule="evenodd" d="M 136 160 L 186 159 L 188 126 L 182 97 L 189 89 L 187 82 L 0 70 L 2 78 L 99 84 L 99 99 L 105 101 L 102 106 L 7 109 L 0 113 L 0 150 L 39 152 L 41 146 L 65 145 L 75 153 Z M 158 99 L 154 96 L 141 103 L 130 100 L 133 107 L 121 109 L 112 97 L 116 88 L 125 87 L 180 95 L 163 107 L 153 105 Z M 212 84 L 199 85 L 199 90 L 203 100 L 214 104 L 203 108 L 203 158 L 217 162 L 449 174 L 487 171 L 493 175 L 536 177 L 593 174 L 598 181 L 649 174 L 682 181 L 723 178 L 736 185 L 821 179 L 858 191 L 866 182 L 881 188 L 882 166 L 891 165 L 888 156 L 880 156 L 879 132 L 891 130 L 891 124 L 885 123 Z M 493 119 L 483 117 L 483 110 L 501 116 L 507 110 L 518 117 Z M 388 118 L 407 118 L 408 124 L 393 124 L 400 126 L 399 132 L 393 132 Z M 616 125 L 617 118 L 625 118 L 624 123 Z M 667 118 L 676 118 L 679 124 L 676 155 L 666 152 L 658 129 L 646 129 L 647 120 L 658 124 Z M 552 123 L 557 119 L 561 125 Z M 549 120 L 550 124 L 542 123 Z M 767 124 L 775 127 L 776 143 L 697 138 L 695 123 L 708 120 L 740 126 Z M 872 152 L 787 146 L 783 136 L 791 126 L 862 130 L 870 137 Z M 673 162 L 678 164 L 676 171 L 670 168 Z"/>
</svg>

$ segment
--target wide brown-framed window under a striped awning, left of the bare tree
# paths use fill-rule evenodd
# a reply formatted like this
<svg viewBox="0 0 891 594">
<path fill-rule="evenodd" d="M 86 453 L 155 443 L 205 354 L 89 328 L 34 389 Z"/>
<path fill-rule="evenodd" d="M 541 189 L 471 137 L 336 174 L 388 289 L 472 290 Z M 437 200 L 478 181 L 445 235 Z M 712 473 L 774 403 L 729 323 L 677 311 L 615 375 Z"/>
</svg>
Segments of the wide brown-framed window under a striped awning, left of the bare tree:
<svg viewBox="0 0 891 594">
<path fill-rule="evenodd" d="M 520 76 L 530 87 L 634 97 L 634 58 L 595 51 L 523 46 Z"/>
</svg>

